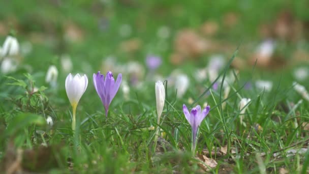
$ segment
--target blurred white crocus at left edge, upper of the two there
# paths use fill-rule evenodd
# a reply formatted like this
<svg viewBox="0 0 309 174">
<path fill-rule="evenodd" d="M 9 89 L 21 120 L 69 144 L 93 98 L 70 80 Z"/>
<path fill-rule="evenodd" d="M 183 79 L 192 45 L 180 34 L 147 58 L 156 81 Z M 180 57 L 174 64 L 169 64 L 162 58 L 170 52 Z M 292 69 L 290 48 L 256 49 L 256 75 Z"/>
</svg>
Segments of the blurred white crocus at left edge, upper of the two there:
<svg viewBox="0 0 309 174">
<path fill-rule="evenodd" d="M 18 52 L 19 52 L 19 43 L 17 39 L 12 36 L 8 36 L 6 40 L 4 41 L 1 55 L 3 57 L 12 56 L 12 55 L 17 55 Z"/>
</svg>

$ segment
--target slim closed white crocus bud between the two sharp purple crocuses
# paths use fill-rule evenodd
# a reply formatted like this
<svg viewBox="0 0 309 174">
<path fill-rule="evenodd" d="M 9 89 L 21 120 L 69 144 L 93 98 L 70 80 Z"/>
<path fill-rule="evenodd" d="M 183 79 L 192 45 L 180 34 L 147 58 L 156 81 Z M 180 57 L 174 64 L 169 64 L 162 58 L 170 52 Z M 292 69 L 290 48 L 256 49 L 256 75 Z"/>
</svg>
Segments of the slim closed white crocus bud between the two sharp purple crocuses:
<svg viewBox="0 0 309 174">
<path fill-rule="evenodd" d="M 165 101 L 165 89 L 162 81 L 156 82 L 156 101 L 157 101 L 157 115 L 158 120 L 160 120 L 160 116 L 163 111 L 164 101 Z"/>
</svg>

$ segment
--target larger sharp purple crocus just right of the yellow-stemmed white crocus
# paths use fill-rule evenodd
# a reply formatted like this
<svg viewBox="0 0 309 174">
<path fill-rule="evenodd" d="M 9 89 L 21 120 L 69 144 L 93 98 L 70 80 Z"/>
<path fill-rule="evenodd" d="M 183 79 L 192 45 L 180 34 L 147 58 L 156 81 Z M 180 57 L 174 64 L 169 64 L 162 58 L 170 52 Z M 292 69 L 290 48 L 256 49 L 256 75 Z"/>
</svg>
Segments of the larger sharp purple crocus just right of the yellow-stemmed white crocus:
<svg viewBox="0 0 309 174">
<path fill-rule="evenodd" d="M 110 71 L 107 72 L 105 79 L 104 75 L 101 74 L 100 71 L 97 74 L 94 74 L 94 85 L 104 105 L 106 117 L 108 107 L 119 89 L 121 79 L 122 74 L 118 74 L 117 80 L 115 81 L 113 74 Z"/>
</svg>

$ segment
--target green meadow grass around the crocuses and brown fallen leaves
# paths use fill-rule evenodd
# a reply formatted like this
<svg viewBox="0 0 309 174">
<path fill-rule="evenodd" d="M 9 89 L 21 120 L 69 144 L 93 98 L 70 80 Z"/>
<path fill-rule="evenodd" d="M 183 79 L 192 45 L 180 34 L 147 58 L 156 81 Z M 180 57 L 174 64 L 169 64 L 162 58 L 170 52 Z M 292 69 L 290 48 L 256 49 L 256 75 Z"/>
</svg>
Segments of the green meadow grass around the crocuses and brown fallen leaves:
<svg viewBox="0 0 309 174">
<path fill-rule="evenodd" d="M 16 72 L 1 74 L 1 171 L 8 172 L 8 167 L 12 167 L 50 173 L 307 172 L 308 101 L 293 90 L 292 68 L 286 66 L 283 70 L 265 71 L 254 64 L 237 71 L 231 67 L 236 56 L 251 52 L 246 49 L 246 44 L 257 40 L 259 22 L 271 20 L 269 16 L 281 9 L 274 7 L 291 5 L 292 11 L 298 12 L 297 17 L 305 18 L 306 9 L 300 1 L 251 2 L 244 4 L 246 8 L 226 1 L 208 6 L 201 1 L 130 2 L 110 2 L 104 4 L 104 8 L 87 1 L 80 1 L 74 7 L 70 1 L 61 5 L 36 1 L 4 2 L 0 7 L 0 17 L 5 19 L 14 14 L 18 19 L 19 40 L 27 41 L 35 34 L 38 38 L 32 38 L 33 41 L 40 37 L 46 40 L 34 42 L 33 51 L 24 55 Z M 21 5 L 24 8 L 19 10 Z M 259 8 L 254 7 L 266 9 L 265 13 L 261 14 Z M 162 10 L 159 14 L 164 17 L 157 15 L 158 10 Z M 119 90 L 105 118 L 104 107 L 92 84 L 92 73 L 108 71 L 101 66 L 102 57 L 116 56 L 123 65 L 130 61 L 143 64 L 148 52 L 168 57 L 173 41 L 165 40 L 168 46 L 161 49 L 161 40 L 154 36 L 159 26 L 168 25 L 173 38 L 181 28 L 198 27 L 205 20 L 204 16 L 220 20 L 221 13 L 229 10 L 243 16 L 243 25 L 239 25 L 238 30 L 220 28 L 220 34 L 215 37 L 224 42 L 232 41 L 233 46 L 225 52 L 231 58 L 214 81 L 195 80 L 194 71 L 206 65 L 210 53 L 180 66 L 172 65 L 164 58 L 159 74 L 167 76 L 179 68 L 188 74 L 191 82 L 183 97 L 177 98 L 177 90 L 170 87 L 171 81 L 164 79 L 166 97 L 160 124 L 157 124 L 155 81 L 146 77 L 142 79 L 141 88 L 130 86 L 128 98 Z M 108 30 L 98 26 L 101 13 L 103 19 L 108 18 Z M 82 41 L 71 42 L 64 38 L 66 29 L 63 25 L 70 22 L 83 28 Z M 136 26 L 130 37 L 118 36 L 123 23 Z M 13 21 L 12 25 L 11 28 L 16 30 L 17 24 Z M 46 27 L 52 28 L 49 31 Z M 41 32 L 46 30 L 48 32 Z M 136 37 L 143 42 L 138 51 L 120 50 L 119 42 Z M 240 40 L 237 46 L 235 43 Z M 307 48 L 308 43 L 304 42 Z M 283 44 L 283 48 L 287 48 L 284 53 L 291 55 L 295 47 Z M 233 49 L 236 49 L 234 53 Z M 74 73 L 85 73 L 89 79 L 88 88 L 78 103 L 76 131 L 71 129 L 72 108 L 65 90 L 66 72 L 59 68 L 56 86 L 44 82 L 49 65 L 60 67 L 59 57 L 65 53 L 73 57 Z M 130 74 L 121 73 L 129 81 Z M 228 75 L 235 80 L 228 84 L 230 92 L 225 96 L 224 81 Z M 271 91 L 256 88 L 254 82 L 262 78 L 273 82 Z M 213 89 L 215 83 L 219 83 L 218 90 Z M 249 89 L 245 88 L 248 83 L 253 84 Z M 39 91 L 33 93 L 35 86 Z M 239 109 L 242 98 L 251 99 L 243 114 Z M 193 156 L 191 126 L 184 117 L 182 104 L 189 109 L 197 104 L 204 108 L 205 102 L 210 106 L 210 112 L 199 127 L 197 153 Z M 46 124 L 48 116 L 53 120 L 52 126 Z M 158 142 L 154 143 L 157 127 L 161 132 Z M 215 160 L 218 165 L 205 165 L 203 156 Z"/>
</svg>

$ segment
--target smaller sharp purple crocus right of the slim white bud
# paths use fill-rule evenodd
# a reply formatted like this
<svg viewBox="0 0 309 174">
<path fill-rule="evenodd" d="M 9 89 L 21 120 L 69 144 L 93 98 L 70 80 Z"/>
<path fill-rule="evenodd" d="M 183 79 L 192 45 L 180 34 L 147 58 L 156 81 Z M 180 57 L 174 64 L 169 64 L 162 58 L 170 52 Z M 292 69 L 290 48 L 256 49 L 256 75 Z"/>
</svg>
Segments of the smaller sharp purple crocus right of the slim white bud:
<svg viewBox="0 0 309 174">
<path fill-rule="evenodd" d="M 206 106 L 205 109 L 201 111 L 201 106 L 197 105 L 196 107 L 192 108 L 191 113 L 189 112 L 185 104 L 183 104 L 182 109 L 184 116 L 186 117 L 192 128 L 192 153 L 195 154 L 197 131 L 202 121 L 208 114 L 210 106 Z"/>
</svg>

